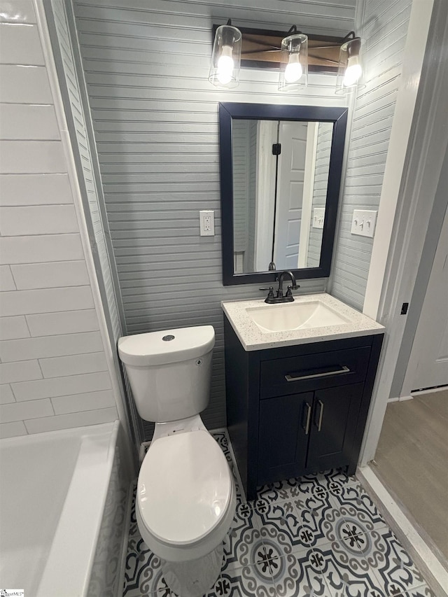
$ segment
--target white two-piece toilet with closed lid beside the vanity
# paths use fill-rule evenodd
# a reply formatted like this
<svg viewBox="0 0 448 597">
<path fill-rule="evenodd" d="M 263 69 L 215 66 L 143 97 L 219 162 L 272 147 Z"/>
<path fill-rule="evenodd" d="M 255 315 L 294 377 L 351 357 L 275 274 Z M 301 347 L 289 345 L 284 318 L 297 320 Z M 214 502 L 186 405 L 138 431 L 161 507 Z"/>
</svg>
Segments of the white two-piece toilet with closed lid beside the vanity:
<svg viewBox="0 0 448 597">
<path fill-rule="evenodd" d="M 214 344 L 211 325 L 118 340 L 137 410 L 155 422 L 139 472 L 137 525 L 181 597 L 204 595 L 218 578 L 236 507 L 232 472 L 200 417 Z"/>
</svg>

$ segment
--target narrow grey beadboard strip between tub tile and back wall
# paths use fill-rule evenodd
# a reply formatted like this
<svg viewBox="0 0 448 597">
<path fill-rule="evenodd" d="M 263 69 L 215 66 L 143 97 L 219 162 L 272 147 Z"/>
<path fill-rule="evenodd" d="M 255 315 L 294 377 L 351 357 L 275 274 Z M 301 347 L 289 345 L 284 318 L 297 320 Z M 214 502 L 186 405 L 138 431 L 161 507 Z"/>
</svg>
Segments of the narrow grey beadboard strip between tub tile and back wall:
<svg viewBox="0 0 448 597">
<path fill-rule="evenodd" d="M 78 43 L 76 33 L 71 35 L 70 23 L 73 23 L 71 5 L 64 0 L 51 0 L 47 5 L 47 20 L 52 38 L 52 50 L 57 65 L 59 83 L 66 120 L 71 134 L 73 155 L 78 171 L 78 183 L 83 197 L 85 221 L 90 237 L 90 246 L 94 259 L 99 289 L 104 304 L 104 312 L 109 332 L 109 341 L 117 369 L 120 361 L 116 350 L 118 338 L 125 335 L 124 322 L 120 312 L 123 312 L 121 295 L 116 274 L 116 264 L 113 259 L 111 245 L 107 242 L 110 237 L 109 224 L 106 218 L 101 174 L 94 146 L 92 121 L 85 93 L 85 81 L 80 67 L 80 57 L 76 57 Z M 51 8 L 51 10 L 49 10 Z M 73 37 L 73 41 L 72 41 Z M 84 93 L 83 93 L 84 92 Z M 125 379 L 127 388 L 120 383 L 127 413 L 128 422 L 136 443 L 141 440 L 141 419 L 132 398 L 130 386 Z"/>
</svg>

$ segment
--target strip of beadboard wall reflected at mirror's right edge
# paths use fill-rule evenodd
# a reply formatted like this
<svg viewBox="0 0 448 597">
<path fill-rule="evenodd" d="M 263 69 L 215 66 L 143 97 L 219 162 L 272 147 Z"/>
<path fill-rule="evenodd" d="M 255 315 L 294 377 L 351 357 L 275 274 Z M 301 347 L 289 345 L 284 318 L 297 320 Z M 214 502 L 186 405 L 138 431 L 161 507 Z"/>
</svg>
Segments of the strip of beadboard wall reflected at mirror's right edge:
<svg viewBox="0 0 448 597">
<path fill-rule="evenodd" d="M 307 267 L 318 267 L 321 260 L 323 228 L 313 227 L 313 209 L 325 207 L 327 202 L 328 171 L 333 127 L 321 122 L 317 129 L 316 167 L 314 169 L 313 201 L 311 207 L 311 228 L 309 229 Z"/>
</svg>

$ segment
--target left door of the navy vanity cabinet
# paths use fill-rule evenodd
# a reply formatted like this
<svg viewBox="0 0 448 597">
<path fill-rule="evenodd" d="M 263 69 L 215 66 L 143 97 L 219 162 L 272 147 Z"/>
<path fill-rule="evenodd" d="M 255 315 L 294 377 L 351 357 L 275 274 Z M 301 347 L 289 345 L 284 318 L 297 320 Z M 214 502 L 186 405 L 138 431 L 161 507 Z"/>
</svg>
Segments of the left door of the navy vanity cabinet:
<svg viewBox="0 0 448 597">
<path fill-rule="evenodd" d="M 312 392 L 260 400 L 259 485 L 295 477 L 304 470 L 312 402 Z"/>
</svg>

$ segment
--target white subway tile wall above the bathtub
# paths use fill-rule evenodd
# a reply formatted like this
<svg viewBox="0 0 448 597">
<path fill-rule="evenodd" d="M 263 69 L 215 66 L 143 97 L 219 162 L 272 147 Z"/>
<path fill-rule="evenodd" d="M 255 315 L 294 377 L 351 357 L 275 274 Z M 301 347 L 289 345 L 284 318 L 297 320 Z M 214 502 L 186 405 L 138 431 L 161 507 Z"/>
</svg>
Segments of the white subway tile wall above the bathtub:
<svg viewBox="0 0 448 597">
<path fill-rule="evenodd" d="M 0 437 L 13 437 L 118 415 L 36 15 L 30 0 L 4 5 Z"/>
</svg>

